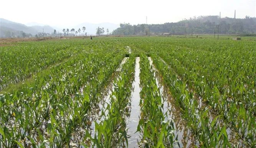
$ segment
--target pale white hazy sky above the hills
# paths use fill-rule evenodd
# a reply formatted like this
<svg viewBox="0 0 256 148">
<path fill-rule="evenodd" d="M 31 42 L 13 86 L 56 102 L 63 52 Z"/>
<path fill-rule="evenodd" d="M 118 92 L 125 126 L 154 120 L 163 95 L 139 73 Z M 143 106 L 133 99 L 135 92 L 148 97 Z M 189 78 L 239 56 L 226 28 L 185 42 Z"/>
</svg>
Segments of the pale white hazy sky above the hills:
<svg viewBox="0 0 256 148">
<path fill-rule="evenodd" d="M 256 17 L 256 0 L 1 0 L 0 18 L 52 26 L 177 22 L 200 15 Z"/>
</svg>

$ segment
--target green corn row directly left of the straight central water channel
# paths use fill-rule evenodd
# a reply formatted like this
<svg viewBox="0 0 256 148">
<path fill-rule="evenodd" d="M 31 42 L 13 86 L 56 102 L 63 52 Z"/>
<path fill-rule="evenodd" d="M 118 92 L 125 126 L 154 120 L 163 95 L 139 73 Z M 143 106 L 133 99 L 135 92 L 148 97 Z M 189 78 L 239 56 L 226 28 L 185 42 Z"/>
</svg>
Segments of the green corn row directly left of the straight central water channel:
<svg viewBox="0 0 256 148">
<path fill-rule="evenodd" d="M 106 108 L 108 113 L 103 114 L 106 116 L 105 120 L 95 122 L 96 134 L 91 138 L 92 146 L 108 148 L 124 146 L 125 143 L 128 145 L 126 114 L 134 77 L 134 61 L 135 57 L 131 55 L 114 81 L 114 90 Z"/>
</svg>

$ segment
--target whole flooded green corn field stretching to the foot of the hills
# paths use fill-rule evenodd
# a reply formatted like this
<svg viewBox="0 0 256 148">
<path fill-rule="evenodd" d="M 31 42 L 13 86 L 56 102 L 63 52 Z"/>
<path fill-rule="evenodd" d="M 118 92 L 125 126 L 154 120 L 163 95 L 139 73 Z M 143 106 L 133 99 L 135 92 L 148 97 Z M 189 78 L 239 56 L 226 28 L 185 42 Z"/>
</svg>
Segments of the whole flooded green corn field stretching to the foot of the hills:
<svg viewBox="0 0 256 148">
<path fill-rule="evenodd" d="M 256 147 L 256 42 L 102 37 L 0 47 L 1 148 Z"/>
</svg>

